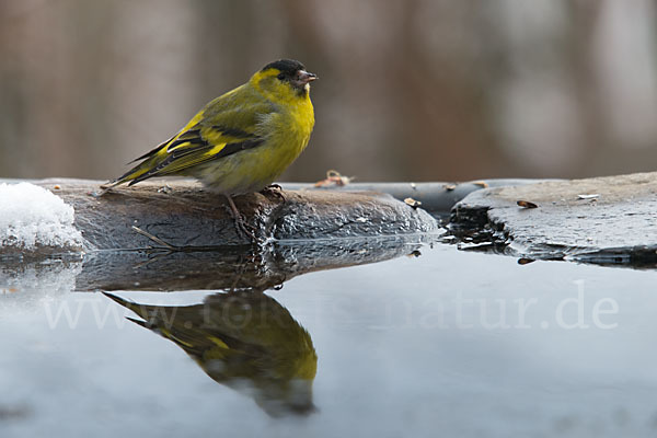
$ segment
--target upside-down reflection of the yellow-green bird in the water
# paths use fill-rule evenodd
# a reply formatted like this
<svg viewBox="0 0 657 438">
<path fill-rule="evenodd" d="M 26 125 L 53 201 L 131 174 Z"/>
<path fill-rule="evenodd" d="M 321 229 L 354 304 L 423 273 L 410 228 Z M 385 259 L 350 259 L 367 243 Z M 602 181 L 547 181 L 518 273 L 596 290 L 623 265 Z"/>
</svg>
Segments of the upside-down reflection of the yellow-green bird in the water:
<svg viewBox="0 0 657 438">
<path fill-rule="evenodd" d="M 107 297 L 138 314 L 130 321 L 185 350 L 215 381 L 253 397 L 267 414 L 315 411 L 318 356 L 309 333 L 262 290 L 219 292 L 200 304 L 149 306 Z"/>
</svg>

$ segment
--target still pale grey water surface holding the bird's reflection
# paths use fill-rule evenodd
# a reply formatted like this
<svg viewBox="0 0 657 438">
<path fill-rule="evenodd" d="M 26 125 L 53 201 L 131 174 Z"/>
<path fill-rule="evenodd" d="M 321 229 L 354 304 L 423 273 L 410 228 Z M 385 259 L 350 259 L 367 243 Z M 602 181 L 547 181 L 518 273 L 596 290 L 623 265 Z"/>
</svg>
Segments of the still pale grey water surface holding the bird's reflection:
<svg viewBox="0 0 657 438">
<path fill-rule="evenodd" d="M 0 436 L 657 434 L 654 272 L 399 254 L 251 287 L 175 261 L 232 291 L 126 290 L 138 267 L 104 295 L 76 291 L 81 263 L 8 269 Z"/>
</svg>

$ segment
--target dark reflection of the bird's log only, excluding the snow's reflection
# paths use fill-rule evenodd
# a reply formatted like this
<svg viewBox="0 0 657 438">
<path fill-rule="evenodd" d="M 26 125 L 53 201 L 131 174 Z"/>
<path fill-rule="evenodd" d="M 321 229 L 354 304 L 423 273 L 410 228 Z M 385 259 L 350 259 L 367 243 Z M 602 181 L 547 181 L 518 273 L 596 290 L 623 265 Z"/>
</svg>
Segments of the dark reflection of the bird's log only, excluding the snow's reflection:
<svg viewBox="0 0 657 438">
<path fill-rule="evenodd" d="M 99 252 L 84 257 L 76 290 L 265 290 L 306 273 L 381 262 L 419 246 L 418 238 L 400 237 L 270 244 L 257 252 Z"/>
</svg>

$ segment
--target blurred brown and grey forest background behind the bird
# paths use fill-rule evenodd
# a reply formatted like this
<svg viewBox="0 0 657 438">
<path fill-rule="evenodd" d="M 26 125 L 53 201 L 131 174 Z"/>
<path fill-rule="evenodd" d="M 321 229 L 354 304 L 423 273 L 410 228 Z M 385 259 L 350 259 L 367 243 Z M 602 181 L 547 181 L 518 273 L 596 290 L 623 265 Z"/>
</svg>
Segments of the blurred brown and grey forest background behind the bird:
<svg viewBox="0 0 657 438">
<path fill-rule="evenodd" d="M 319 74 L 283 180 L 657 168 L 653 0 L 2 0 L 0 177 L 110 178 L 290 57 Z"/>
</svg>

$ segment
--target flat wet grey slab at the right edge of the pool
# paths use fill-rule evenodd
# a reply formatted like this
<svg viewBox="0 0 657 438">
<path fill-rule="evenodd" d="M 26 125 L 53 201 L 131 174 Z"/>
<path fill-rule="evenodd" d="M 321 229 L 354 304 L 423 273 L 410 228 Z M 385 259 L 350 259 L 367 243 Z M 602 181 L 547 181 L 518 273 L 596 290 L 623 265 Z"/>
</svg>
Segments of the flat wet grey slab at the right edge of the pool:
<svg viewBox="0 0 657 438">
<path fill-rule="evenodd" d="M 654 268 L 655 211 L 657 173 L 637 173 L 474 192 L 454 207 L 450 228 L 473 249 Z"/>
</svg>

